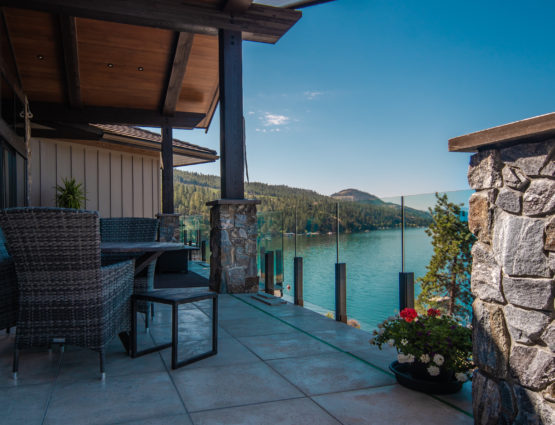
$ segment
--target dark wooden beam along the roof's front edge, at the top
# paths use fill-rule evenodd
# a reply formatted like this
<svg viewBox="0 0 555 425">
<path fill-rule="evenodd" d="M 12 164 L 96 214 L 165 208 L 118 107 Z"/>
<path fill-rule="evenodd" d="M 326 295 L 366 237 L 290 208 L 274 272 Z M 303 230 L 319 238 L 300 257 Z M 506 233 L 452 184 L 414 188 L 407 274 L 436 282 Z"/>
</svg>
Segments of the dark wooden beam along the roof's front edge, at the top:
<svg viewBox="0 0 555 425">
<path fill-rule="evenodd" d="M 0 0 L 0 6 L 216 35 L 240 31 L 251 41 L 275 43 L 301 18 L 298 10 L 252 4 L 244 13 L 221 10 L 195 0 Z"/>
</svg>

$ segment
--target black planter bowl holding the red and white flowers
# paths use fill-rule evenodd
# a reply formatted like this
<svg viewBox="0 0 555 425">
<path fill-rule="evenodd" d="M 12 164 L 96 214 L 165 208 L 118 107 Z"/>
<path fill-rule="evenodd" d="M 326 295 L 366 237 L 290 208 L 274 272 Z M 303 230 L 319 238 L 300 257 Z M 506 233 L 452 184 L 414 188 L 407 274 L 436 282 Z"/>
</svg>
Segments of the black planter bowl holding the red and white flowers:
<svg viewBox="0 0 555 425">
<path fill-rule="evenodd" d="M 418 368 L 415 370 L 412 364 L 398 361 L 391 363 L 389 369 L 395 374 L 399 384 L 426 394 L 453 394 L 462 388 L 462 382 L 457 381 L 452 373 L 443 373 L 437 377 L 430 376 L 429 378 L 432 379 L 424 379 Z"/>
</svg>

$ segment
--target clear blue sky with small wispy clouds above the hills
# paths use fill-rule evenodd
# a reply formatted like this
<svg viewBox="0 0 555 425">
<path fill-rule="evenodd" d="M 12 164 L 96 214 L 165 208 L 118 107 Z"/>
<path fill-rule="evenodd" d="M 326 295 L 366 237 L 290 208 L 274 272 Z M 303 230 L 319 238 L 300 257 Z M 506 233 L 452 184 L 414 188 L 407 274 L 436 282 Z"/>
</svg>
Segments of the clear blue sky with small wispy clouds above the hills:
<svg viewBox="0 0 555 425">
<path fill-rule="evenodd" d="M 336 0 L 243 44 L 250 181 L 378 196 L 467 189 L 448 139 L 555 111 L 555 2 Z M 219 151 L 207 134 L 175 137 Z M 219 175 L 219 163 L 184 167 Z"/>
</svg>

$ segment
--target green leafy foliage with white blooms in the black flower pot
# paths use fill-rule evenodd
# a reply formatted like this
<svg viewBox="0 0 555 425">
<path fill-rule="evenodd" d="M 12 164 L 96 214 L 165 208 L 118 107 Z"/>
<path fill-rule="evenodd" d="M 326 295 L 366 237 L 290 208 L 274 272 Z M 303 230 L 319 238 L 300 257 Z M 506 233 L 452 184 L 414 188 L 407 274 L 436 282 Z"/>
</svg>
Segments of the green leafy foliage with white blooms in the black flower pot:
<svg viewBox="0 0 555 425">
<path fill-rule="evenodd" d="M 414 320 L 391 317 L 378 325 L 370 343 L 397 348 L 406 363 L 420 362 L 453 372 L 472 368 L 472 331 L 450 316 L 424 314 Z M 440 357 L 435 357 L 436 355 Z"/>
</svg>

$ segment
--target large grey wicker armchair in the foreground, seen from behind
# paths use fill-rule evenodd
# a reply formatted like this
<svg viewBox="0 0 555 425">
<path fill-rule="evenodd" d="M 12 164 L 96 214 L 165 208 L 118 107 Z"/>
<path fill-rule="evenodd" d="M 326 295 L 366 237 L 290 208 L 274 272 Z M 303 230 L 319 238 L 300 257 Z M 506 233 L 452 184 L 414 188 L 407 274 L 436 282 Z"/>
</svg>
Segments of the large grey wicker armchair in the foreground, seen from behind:
<svg viewBox="0 0 555 425">
<path fill-rule="evenodd" d="M 0 227 L 19 287 L 14 378 L 20 349 L 52 343 L 97 351 L 104 378 L 106 345 L 130 330 L 133 262 L 101 267 L 97 212 L 11 208 Z"/>
</svg>

